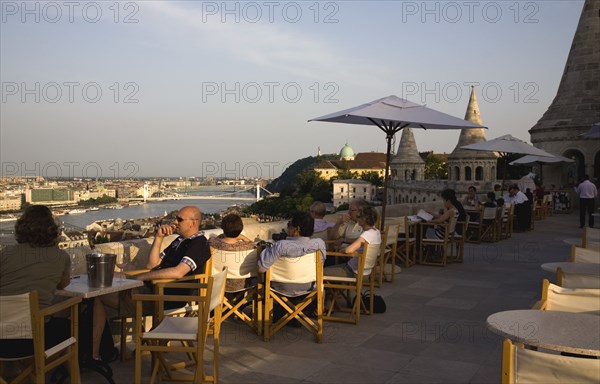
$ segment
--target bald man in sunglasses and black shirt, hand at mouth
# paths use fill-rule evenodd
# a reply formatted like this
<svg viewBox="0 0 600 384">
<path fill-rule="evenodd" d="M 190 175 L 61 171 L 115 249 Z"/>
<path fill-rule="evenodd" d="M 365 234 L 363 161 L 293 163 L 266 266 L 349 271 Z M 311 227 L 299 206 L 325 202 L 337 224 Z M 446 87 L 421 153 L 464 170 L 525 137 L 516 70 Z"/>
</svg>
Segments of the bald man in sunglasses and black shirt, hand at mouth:
<svg viewBox="0 0 600 384">
<path fill-rule="evenodd" d="M 154 288 L 150 280 L 157 279 L 180 279 L 185 275 L 202 273 L 204 265 L 210 258 L 210 247 L 204 232 L 200 231 L 202 213 L 198 207 L 187 206 L 181 208 L 175 221 L 170 225 L 162 225 L 156 232 L 150 254 L 148 255 L 147 267 L 151 271 L 136 275 L 135 279 L 147 282 L 139 289 L 139 293 L 152 293 Z M 163 252 L 160 251 L 165 236 L 179 234 Z M 165 292 L 166 294 L 177 294 L 177 292 Z M 186 294 L 186 292 L 179 292 Z M 175 307 L 181 303 L 173 303 Z M 131 317 L 135 313 L 135 305 L 132 300 L 119 295 L 109 294 L 99 296 L 94 300 L 93 317 L 93 339 L 92 358 L 100 359 L 100 339 L 106 324 L 106 312 L 104 306 L 119 309 L 121 315 Z M 167 306 L 165 306 L 168 308 Z"/>
</svg>

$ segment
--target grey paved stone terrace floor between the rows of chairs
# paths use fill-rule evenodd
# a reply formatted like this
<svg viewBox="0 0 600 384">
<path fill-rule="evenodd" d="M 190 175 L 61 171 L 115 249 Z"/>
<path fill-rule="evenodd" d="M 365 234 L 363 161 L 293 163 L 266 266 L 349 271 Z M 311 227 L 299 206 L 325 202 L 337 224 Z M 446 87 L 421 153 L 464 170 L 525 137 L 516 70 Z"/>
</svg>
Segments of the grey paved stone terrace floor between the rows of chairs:
<svg viewBox="0 0 600 384">
<path fill-rule="evenodd" d="M 464 264 L 414 266 L 378 294 L 387 312 L 360 325 L 325 323 L 324 342 L 286 328 L 265 343 L 250 328 L 226 322 L 221 383 L 499 383 L 501 339 L 486 329 L 495 312 L 530 308 L 540 295 L 540 268 L 565 261 L 581 237 L 577 212 L 536 221 L 535 230 L 493 244 L 467 244 Z M 207 352 L 207 355 L 212 356 Z M 117 383 L 133 382 L 134 362 L 114 362 Z M 210 368 L 210 362 L 206 364 Z M 149 381 L 146 357 L 144 382 Z M 84 373 L 83 382 L 104 382 Z"/>
</svg>

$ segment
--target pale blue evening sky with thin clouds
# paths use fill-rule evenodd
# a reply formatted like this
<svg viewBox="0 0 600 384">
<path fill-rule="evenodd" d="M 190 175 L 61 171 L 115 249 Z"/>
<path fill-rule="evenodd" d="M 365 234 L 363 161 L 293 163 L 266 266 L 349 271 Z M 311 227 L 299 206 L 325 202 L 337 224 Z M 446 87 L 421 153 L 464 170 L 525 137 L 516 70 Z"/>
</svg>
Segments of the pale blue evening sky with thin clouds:
<svg viewBox="0 0 600 384">
<path fill-rule="evenodd" d="M 396 95 L 529 142 L 583 7 L 569 1 L 0 2 L 1 176 L 277 177 L 385 151 L 309 119 Z M 450 153 L 459 131 L 414 130 Z M 396 137 L 396 147 L 400 134 Z"/>
</svg>

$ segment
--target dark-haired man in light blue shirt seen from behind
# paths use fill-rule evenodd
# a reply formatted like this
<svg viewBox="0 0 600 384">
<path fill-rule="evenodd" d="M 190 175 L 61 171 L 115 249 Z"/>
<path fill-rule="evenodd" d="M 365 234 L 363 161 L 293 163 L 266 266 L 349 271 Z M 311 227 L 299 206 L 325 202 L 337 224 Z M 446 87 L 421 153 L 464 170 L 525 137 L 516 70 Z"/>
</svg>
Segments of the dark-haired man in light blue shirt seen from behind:
<svg viewBox="0 0 600 384">
<path fill-rule="evenodd" d="M 324 262 L 327 256 L 325 242 L 322 239 L 310 238 L 313 234 L 314 225 L 314 219 L 309 213 L 295 213 L 288 222 L 287 238 L 279 240 L 260 254 L 258 271 L 265 272 L 282 256 L 302 257 L 317 250 L 321 251 L 321 261 Z M 286 296 L 299 296 L 315 289 L 315 283 L 273 282 L 271 286 Z"/>
</svg>

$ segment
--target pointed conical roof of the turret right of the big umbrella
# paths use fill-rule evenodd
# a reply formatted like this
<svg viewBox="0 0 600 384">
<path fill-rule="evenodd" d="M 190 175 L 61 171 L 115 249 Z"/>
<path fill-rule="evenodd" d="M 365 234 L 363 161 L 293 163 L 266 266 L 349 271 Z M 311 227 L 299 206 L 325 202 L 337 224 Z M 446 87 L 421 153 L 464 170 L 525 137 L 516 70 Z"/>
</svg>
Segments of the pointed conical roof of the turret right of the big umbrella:
<svg viewBox="0 0 600 384">
<path fill-rule="evenodd" d="M 483 126 L 474 86 L 471 86 L 471 97 L 469 98 L 469 105 L 465 113 L 465 120 Z M 496 155 L 493 152 L 469 151 L 468 149 L 461 148 L 462 146 L 481 143 L 482 141 L 486 141 L 484 128 L 462 129 L 458 138 L 458 144 L 456 144 L 454 151 L 448 155 L 448 159 L 495 159 Z"/>
</svg>

